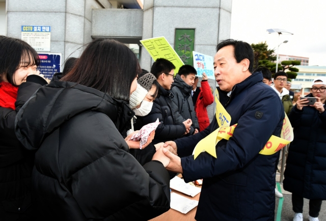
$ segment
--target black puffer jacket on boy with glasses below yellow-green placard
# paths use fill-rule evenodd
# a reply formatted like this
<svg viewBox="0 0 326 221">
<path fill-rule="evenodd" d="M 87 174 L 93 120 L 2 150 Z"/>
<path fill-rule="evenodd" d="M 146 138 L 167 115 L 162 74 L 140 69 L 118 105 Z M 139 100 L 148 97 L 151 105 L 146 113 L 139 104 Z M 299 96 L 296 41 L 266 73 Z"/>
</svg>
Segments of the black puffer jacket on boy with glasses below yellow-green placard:
<svg viewBox="0 0 326 221">
<path fill-rule="evenodd" d="M 178 107 L 171 100 L 173 96 L 171 92 L 159 86 L 159 94 L 159 98 L 154 100 L 151 112 L 143 117 L 144 125 L 155 122 L 157 118 L 159 119 L 160 124 L 155 130 L 153 144 L 173 141 L 181 137 L 185 132 L 183 123 L 175 125 L 174 116 L 178 112 Z"/>
</svg>

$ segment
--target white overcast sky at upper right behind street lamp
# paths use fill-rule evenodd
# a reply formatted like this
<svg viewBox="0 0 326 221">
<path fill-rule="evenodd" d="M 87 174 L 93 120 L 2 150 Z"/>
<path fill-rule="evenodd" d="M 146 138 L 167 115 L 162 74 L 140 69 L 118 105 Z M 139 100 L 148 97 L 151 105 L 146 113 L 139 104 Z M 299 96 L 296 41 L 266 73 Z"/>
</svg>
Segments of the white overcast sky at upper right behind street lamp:
<svg viewBox="0 0 326 221">
<path fill-rule="evenodd" d="M 294 35 L 268 34 L 285 29 Z M 231 38 L 250 44 L 266 41 L 279 54 L 309 58 L 309 65 L 326 66 L 326 1 L 232 0 Z M 276 51 L 275 50 L 275 51 Z"/>
</svg>

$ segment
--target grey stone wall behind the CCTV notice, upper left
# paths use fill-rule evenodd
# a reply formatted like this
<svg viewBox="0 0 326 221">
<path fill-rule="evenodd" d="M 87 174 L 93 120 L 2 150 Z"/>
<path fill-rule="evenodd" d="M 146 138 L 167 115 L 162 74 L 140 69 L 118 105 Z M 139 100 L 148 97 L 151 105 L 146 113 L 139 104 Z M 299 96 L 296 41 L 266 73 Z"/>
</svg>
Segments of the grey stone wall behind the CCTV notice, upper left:
<svg viewBox="0 0 326 221">
<path fill-rule="evenodd" d="M 79 57 L 83 45 L 91 42 L 92 9 L 111 7 L 95 0 L 10 0 L 7 1 L 7 36 L 21 39 L 21 25 L 51 26 L 52 53 Z"/>
</svg>

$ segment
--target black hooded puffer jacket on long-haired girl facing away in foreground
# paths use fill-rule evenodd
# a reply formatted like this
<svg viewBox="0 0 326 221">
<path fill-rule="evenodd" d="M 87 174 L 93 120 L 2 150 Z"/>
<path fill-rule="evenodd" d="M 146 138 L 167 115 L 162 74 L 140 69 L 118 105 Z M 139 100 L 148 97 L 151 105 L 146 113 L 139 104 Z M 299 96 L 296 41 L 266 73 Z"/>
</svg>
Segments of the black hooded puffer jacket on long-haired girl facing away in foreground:
<svg viewBox="0 0 326 221">
<path fill-rule="evenodd" d="M 132 116 L 125 102 L 64 81 L 21 108 L 16 134 L 37 150 L 40 220 L 148 220 L 169 210 L 167 170 L 158 161 L 142 167 L 120 134 Z"/>
</svg>

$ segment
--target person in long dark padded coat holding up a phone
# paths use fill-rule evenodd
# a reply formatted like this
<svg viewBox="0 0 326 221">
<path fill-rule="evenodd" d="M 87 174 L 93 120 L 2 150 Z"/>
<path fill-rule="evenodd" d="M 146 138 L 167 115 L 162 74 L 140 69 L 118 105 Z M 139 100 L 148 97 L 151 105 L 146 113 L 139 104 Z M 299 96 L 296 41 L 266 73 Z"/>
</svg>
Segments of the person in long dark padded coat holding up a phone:
<svg viewBox="0 0 326 221">
<path fill-rule="evenodd" d="M 309 220 L 318 221 L 326 200 L 326 77 L 314 79 L 311 94 L 298 99 L 289 114 L 294 140 L 289 147 L 284 189 L 292 192 L 294 221 L 303 220 L 304 198 L 309 199 Z M 316 102 L 309 105 L 308 99 Z"/>
</svg>

